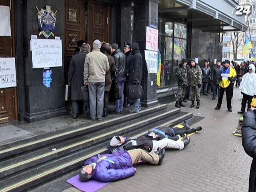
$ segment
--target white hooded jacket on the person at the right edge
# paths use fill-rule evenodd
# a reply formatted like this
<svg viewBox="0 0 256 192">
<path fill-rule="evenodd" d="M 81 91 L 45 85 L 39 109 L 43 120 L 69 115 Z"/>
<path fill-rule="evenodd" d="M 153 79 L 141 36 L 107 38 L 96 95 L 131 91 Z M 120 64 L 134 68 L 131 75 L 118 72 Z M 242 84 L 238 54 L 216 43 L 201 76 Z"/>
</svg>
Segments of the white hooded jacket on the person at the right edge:
<svg viewBox="0 0 256 192">
<path fill-rule="evenodd" d="M 247 72 L 243 76 L 239 89 L 246 95 L 254 96 L 256 95 L 255 66 L 250 64 L 249 67 L 252 67 L 252 73 Z"/>
</svg>

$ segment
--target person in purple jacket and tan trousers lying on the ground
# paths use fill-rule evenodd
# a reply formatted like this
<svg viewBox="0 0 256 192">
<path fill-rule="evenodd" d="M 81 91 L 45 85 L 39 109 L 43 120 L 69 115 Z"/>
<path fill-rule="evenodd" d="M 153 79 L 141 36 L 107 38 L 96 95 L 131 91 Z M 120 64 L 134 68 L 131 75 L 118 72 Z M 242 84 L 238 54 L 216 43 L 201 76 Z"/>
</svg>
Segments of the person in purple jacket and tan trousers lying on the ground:
<svg viewBox="0 0 256 192">
<path fill-rule="evenodd" d="M 158 148 L 156 152 L 146 152 L 142 149 L 116 151 L 114 154 L 102 154 L 86 160 L 80 171 L 79 180 L 90 179 L 110 182 L 128 178 L 136 172 L 134 164 L 145 162 L 160 165 L 163 162 L 165 150 Z"/>
</svg>

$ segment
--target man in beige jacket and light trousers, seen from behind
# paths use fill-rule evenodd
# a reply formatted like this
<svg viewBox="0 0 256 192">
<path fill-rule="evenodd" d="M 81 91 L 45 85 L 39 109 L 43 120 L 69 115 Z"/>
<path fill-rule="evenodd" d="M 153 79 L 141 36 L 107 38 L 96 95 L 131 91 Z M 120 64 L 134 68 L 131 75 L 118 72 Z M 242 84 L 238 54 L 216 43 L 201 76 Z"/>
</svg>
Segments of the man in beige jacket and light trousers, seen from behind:
<svg viewBox="0 0 256 192">
<path fill-rule="evenodd" d="M 108 58 L 100 52 L 100 41 L 94 40 L 92 52 L 88 53 L 84 62 L 84 84 L 88 85 L 90 99 L 90 118 L 100 121 L 103 114 L 103 98 L 105 75 L 109 70 Z M 96 109 L 97 100 L 97 109 Z"/>
</svg>

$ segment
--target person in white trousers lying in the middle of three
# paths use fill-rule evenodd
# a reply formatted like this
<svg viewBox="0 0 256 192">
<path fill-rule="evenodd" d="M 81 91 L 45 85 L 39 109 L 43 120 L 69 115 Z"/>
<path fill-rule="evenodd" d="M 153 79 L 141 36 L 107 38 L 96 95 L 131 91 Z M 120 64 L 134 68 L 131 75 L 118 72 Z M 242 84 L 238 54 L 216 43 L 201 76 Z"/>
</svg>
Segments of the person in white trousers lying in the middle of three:
<svg viewBox="0 0 256 192">
<path fill-rule="evenodd" d="M 161 140 L 150 140 L 146 136 L 140 136 L 138 138 L 129 138 L 116 135 L 110 140 L 110 144 L 108 145 L 108 149 L 112 152 L 113 148 L 122 147 L 123 150 L 131 150 L 131 149 L 144 149 L 147 152 L 156 152 L 158 147 L 161 149 L 178 149 L 182 150 L 187 146 L 190 142 L 189 137 L 184 137 L 182 140 L 171 140 L 168 138 L 163 138 Z"/>
</svg>

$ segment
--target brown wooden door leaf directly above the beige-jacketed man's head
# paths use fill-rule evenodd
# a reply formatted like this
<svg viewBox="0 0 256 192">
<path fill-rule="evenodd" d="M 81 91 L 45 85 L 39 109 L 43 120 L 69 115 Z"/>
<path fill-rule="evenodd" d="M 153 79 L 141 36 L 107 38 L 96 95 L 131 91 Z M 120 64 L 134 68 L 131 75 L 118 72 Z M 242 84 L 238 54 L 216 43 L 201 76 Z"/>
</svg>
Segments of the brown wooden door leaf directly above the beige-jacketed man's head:
<svg viewBox="0 0 256 192">
<path fill-rule="evenodd" d="M 88 3 L 88 42 L 94 39 L 110 41 L 110 6 L 90 1 Z"/>
</svg>

